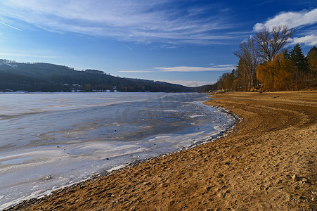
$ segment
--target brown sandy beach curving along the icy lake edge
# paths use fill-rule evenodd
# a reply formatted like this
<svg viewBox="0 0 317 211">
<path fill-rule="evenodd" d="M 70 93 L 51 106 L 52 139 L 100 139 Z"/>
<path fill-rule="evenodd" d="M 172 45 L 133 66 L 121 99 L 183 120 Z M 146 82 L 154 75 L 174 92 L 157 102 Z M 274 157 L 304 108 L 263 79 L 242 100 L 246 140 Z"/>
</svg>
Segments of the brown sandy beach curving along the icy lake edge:
<svg viewBox="0 0 317 211">
<path fill-rule="evenodd" d="M 124 167 L 12 210 L 317 210 L 317 91 L 212 96 L 227 136 Z"/>
</svg>

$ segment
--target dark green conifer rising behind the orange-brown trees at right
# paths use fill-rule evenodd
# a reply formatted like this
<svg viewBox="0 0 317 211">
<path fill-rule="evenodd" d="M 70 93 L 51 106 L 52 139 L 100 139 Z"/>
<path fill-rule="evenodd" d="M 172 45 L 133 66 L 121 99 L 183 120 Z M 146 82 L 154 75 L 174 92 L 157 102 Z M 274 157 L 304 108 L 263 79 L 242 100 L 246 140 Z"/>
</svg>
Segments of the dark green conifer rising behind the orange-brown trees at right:
<svg viewBox="0 0 317 211">
<path fill-rule="evenodd" d="M 307 58 L 305 58 L 302 48 L 296 44 L 292 51 L 290 51 L 290 60 L 292 60 L 299 72 L 307 74 L 309 72 Z"/>
</svg>

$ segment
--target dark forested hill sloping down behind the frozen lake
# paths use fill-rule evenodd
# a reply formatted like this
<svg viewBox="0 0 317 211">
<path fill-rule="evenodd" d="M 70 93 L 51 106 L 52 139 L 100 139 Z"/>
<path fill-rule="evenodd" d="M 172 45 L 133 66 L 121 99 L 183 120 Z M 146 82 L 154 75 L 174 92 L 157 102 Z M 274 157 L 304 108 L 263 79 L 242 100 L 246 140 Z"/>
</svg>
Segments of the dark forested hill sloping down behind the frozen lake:
<svg viewBox="0 0 317 211">
<path fill-rule="evenodd" d="M 49 63 L 17 63 L 0 59 L 0 91 L 200 91 L 166 82 L 129 79 L 100 70 L 74 70 Z"/>
</svg>

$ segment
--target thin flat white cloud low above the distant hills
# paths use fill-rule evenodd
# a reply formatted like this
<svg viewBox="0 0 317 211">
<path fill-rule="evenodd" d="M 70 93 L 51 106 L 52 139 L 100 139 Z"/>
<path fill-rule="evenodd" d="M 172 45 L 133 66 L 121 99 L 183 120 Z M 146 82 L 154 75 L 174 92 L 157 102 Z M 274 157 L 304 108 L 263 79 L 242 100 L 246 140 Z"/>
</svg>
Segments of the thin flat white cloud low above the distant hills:
<svg viewBox="0 0 317 211">
<path fill-rule="evenodd" d="M 214 67 L 188 67 L 188 66 L 180 66 L 180 67 L 170 67 L 170 68 L 153 68 L 155 70 L 159 70 L 161 72 L 206 72 L 206 71 L 231 71 L 235 68 L 234 65 L 216 65 Z"/>
</svg>

